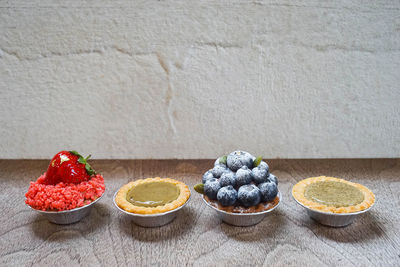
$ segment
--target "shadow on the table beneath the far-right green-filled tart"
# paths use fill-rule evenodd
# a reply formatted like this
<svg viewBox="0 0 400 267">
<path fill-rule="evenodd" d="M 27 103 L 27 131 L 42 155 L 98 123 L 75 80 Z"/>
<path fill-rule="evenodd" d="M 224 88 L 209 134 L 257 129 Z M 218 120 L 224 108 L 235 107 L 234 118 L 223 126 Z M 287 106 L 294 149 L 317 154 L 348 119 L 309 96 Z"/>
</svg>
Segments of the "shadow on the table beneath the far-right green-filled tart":
<svg viewBox="0 0 400 267">
<path fill-rule="evenodd" d="M 384 228 L 373 212 L 365 213 L 352 224 L 340 228 L 319 224 L 311 218 L 310 220 L 312 221 L 310 223 L 310 229 L 312 229 L 316 235 L 323 236 L 336 242 L 351 243 L 368 241 L 385 235 Z"/>
</svg>

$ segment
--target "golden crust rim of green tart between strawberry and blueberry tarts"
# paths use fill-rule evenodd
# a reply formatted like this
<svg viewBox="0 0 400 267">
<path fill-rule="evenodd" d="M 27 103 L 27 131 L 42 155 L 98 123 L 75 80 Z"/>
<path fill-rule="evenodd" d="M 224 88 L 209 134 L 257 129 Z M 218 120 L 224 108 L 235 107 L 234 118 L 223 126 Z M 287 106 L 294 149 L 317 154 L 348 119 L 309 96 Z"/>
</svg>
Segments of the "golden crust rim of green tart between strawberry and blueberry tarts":
<svg viewBox="0 0 400 267">
<path fill-rule="evenodd" d="M 151 183 L 151 182 L 163 182 L 176 185 L 180 191 L 178 198 L 172 201 L 171 203 L 167 203 L 165 205 L 157 207 L 136 206 L 130 203 L 128 200 L 126 200 L 126 195 L 129 192 L 129 190 L 132 189 L 132 187 L 137 186 L 139 184 Z M 118 207 L 127 212 L 137 213 L 137 214 L 157 214 L 157 213 L 171 211 L 182 206 L 183 204 L 186 203 L 189 197 L 190 197 L 190 190 L 186 184 L 171 178 L 155 177 L 155 178 L 139 179 L 123 185 L 118 190 L 117 195 L 115 196 L 115 202 L 117 203 Z"/>
</svg>

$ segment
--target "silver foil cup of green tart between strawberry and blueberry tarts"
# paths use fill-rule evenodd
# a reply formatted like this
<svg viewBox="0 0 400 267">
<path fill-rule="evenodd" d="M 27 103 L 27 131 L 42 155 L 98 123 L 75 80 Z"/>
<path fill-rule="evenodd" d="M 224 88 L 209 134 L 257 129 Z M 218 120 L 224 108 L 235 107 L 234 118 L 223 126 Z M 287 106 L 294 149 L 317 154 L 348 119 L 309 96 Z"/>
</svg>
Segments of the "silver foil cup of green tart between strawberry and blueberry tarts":
<svg viewBox="0 0 400 267">
<path fill-rule="evenodd" d="M 122 213 L 128 215 L 136 225 L 139 225 L 141 227 L 160 227 L 172 222 L 178 215 L 179 210 L 186 206 L 189 203 L 190 198 L 192 197 L 192 194 L 190 193 L 188 200 L 182 206 L 174 210 L 157 214 L 138 214 L 121 209 L 115 202 L 115 197 L 117 196 L 117 193 L 118 191 L 115 192 L 113 197 L 115 207 L 117 207 L 117 209 Z"/>
</svg>

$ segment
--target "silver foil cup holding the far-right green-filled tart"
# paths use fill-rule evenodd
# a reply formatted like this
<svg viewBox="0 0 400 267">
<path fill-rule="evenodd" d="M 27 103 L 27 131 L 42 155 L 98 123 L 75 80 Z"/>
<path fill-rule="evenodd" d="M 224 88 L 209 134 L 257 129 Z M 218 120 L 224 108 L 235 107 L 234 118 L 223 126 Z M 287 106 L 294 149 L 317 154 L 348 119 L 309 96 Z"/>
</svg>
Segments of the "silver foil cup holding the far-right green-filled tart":
<svg viewBox="0 0 400 267">
<path fill-rule="evenodd" d="M 296 200 L 297 204 L 302 206 L 307 211 L 307 214 L 312 219 L 314 219 L 316 222 L 320 224 L 330 227 L 345 227 L 350 225 L 357 217 L 369 211 L 375 204 L 375 203 L 372 204 L 371 207 L 362 211 L 351 212 L 351 213 L 333 213 L 333 212 L 323 212 L 310 209 L 309 207 L 303 205 L 301 202 L 297 201 L 295 197 L 293 198 L 294 200 Z"/>
</svg>

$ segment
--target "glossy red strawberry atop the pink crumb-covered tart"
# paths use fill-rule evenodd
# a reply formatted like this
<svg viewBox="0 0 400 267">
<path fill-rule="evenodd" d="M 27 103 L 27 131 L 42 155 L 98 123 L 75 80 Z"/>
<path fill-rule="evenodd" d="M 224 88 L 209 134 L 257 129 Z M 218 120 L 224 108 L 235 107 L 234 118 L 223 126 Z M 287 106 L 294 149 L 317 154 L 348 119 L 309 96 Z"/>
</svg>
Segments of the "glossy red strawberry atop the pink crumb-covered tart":
<svg viewBox="0 0 400 267">
<path fill-rule="evenodd" d="M 84 158 L 76 151 L 58 152 L 50 161 L 44 183 L 55 185 L 88 181 L 96 173 L 87 163 L 89 158 L 90 155 Z"/>
</svg>

